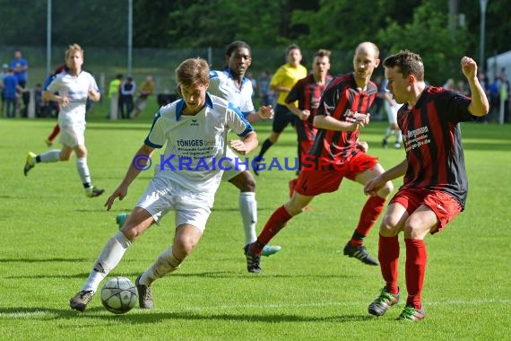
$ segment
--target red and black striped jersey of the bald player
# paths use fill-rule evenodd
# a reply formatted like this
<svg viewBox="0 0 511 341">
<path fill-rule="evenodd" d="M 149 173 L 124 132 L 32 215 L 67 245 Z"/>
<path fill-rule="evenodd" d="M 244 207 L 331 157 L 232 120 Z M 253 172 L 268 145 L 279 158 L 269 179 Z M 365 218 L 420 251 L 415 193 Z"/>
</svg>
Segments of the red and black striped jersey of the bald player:
<svg viewBox="0 0 511 341">
<path fill-rule="evenodd" d="M 319 102 L 316 115 L 328 115 L 340 121 L 352 122 L 355 114 L 367 114 L 377 96 L 377 85 L 369 82 L 365 91 L 357 89 L 353 74 L 336 77 L 328 85 Z M 310 154 L 324 162 L 348 162 L 359 153 L 359 131 L 318 129 Z"/>
</svg>

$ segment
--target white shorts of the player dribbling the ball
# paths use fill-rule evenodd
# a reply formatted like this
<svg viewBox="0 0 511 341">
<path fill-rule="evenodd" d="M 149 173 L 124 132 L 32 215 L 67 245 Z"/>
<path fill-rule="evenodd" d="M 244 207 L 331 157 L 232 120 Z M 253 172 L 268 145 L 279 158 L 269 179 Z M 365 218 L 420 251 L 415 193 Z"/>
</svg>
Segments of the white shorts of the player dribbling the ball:
<svg viewBox="0 0 511 341">
<path fill-rule="evenodd" d="M 204 232 L 212 212 L 213 201 L 214 194 L 204 195 L 192 192 L 182 188 L 177 182 L 157 174 L 136 206 L 149 212 L 155 223 L 158 223 L 160 218 L 170 210 L 174 210 L 176 227 L 188 223 Z"/>
</svg>

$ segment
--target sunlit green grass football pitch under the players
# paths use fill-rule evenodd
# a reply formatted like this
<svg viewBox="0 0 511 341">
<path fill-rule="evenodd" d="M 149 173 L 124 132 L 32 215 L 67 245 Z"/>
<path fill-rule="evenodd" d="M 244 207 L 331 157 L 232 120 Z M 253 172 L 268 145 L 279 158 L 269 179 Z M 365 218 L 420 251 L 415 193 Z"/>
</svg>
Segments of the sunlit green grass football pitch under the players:
<svg viewBox="0 0 511 341">
<path fill-rule="evenodd" d="M 106 240 L 117 231 L 117 213 L 131 210 L 152 171 L 134 181 L 128 197 L 107 212 L 151 120 L 109 122 L 97 110 L 86 144 L 100 198 L 87 198 L 72 162 L 39 164 L 25 178 L 26 153 L 44 152 L 55 120 L 0 119 L 0 335 L 5 340 L 504 340 L 511 316 L 511 126 L 463 124 L 469 177 L 466 210 L 444 232 L 427 238 L 429 262 L 423 301 L 427 318 L 382 318 L 368 303 L 383 282 L 378 267 L 342 256 L 365 201 L 361 187 L 346 181 L 340 191 L 316 197 L 313 210 L 297 216 L 273 240 L 281 253 L 262 259 L 263 273 L 250 275 L 243 256 L 238 191 L 222 184 L 204 237 L 178 272 L 153 285 L 156 308 L 114 315 L 97 295 L 88 310 L 70 310 L 76 293 Z M 269 123 L 255 126 L 262 141 Z M 385 123 L 365 128 L 369 153 L 385 169 L 403 149 L 380 147 Z M 294 157 L 289 130 L 267 157 Z M 258 231 L 288 196 L 291 171 L 264 171 L 257 180 Z M 400 181 L 394 181 L 398 187 Z M 111 275 L 132 280 L 172 242 L 174 214 L 132 245 Z M 403 237 L 401 237 L 403 238 Z M 402 240 L 402 239 L 401 239 Z M 404 288 L 402 241 L 400 282 Z M 367 239 L 377 255 L 377 228 Z"/>
</svg>

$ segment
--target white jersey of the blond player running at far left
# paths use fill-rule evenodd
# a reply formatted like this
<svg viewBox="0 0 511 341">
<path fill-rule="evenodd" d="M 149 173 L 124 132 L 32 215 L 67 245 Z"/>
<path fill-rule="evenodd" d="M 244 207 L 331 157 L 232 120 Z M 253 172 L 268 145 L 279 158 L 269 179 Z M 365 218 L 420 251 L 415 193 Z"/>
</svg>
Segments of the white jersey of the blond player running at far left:
<svg viewBox="0 0 511 341">
<path fill-rule="evenodd" d="M 59 96 L 69 98 L 69 104 L 63 106 L 58 114 L 58 124 L 68 126 L 85 122 L 85 106 L 89 97 L 89 90 L 100 92 L 96 80 L 86 71 L 77 76 L 63 72 L 48 84 L 48 92 L 58 92 Z"/>
</svg>

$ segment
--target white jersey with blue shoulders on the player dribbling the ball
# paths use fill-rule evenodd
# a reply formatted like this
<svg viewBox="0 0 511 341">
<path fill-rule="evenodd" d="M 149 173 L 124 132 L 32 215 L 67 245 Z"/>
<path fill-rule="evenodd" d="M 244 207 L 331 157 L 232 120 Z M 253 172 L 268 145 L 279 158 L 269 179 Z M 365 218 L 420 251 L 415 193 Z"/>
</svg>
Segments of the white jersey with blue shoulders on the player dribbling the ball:
<svg viewBox="0 0 511 341">
<path fill-rule="evenodd" d="M 206 94 L 204 108 L 194 116 L 182 115 L 184 105 L 178 100 L 161 107 L 144 144 L 153 148 L 167 144 L 158 176 L 214 195 L 221 182 L 229 129 L 243 137 L 253 128 L 238 108 L 220 97 Z"/>
</svg>

